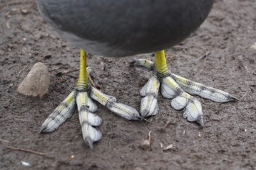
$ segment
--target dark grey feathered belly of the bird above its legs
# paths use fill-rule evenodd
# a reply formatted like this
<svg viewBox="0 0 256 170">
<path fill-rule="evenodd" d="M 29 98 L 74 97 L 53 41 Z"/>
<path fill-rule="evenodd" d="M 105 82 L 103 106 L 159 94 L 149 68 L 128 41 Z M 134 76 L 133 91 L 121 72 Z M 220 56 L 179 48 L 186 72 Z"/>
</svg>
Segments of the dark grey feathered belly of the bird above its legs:
<svg viewBox="0 0 256 170">
<path fill-rule="evenodd" d="M 204 22 L 213 0 L 36 0 L 60 34 L 93 55 L 124 57 L 179 43 Z"/>
</svg>

